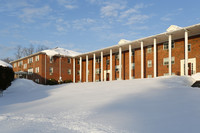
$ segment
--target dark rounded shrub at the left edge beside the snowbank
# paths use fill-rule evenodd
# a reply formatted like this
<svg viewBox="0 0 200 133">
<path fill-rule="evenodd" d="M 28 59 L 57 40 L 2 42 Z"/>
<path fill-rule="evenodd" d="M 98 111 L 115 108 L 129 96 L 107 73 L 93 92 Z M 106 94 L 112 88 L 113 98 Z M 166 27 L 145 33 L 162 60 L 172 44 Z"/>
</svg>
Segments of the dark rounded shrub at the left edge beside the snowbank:
<svg viewBox="0 0 200 133">
<path fill-rule="evenodd" d="M 0 66 L 0 92 L 6 90 L 14 80 L 14 71 L 10 67 Z"/>
</svg>

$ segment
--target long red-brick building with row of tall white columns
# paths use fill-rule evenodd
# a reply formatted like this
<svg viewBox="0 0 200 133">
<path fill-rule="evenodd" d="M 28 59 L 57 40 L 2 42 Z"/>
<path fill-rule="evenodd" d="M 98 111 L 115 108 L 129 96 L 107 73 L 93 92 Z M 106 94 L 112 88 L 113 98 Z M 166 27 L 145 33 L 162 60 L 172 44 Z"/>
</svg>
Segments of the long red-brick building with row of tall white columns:
<svg viewBox="0 0 200 133">
<path fill-rule="evenodd" d="M 39 56 L 40 60 L 28 64 L 26 69 L 20 69 L 20 65 L 15 67 L 34 56 Z M 39 73 L 35 70 L 28 76 L 32 76 L 33 80 L 38 76 L 41 79 L 39 83 L 44 84 L 50 78 L 59 80 L 60 77 L 73 82 L 95 82 L 192 75 L 200 72 L 200 24 L 184 28 L 172 25 L 167 32 L 150 37 L 121 40 L 117 45 L 84 54 L 53 57 L 54 62 L 49 63 L 50 56 L 40 52 L 12 64 L 16 74 L 39 67 Z M 67 63 L 69 59 L 71 61 Z M 19 63 L 22 60 L 23 63 Z M 53 67 L 52 75 L 49 74 L 50 67 Z"/>
</svg>

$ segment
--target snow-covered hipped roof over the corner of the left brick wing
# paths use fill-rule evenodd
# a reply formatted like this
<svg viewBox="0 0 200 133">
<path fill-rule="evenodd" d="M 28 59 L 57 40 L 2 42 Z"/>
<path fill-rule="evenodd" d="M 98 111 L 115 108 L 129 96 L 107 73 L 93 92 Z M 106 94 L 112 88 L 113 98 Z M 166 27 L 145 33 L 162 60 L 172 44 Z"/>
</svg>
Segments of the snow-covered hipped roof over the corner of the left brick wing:
<svg viewBox="0 0 200 133">
<path fill-rule="evenodd" d="M 61 55 L 61 56 L 77 56 L 81 53 L 75 52 L 75 51 L 71 51 L 68 49 L 64 49 L 64 48 L 53 48 L 53 49 L 49 49 L 49 50 L 43 50 L 41 51 L 42 53 L 46 53 L 48 56 L 56 56 L 56 55 Z"/>
</svg>

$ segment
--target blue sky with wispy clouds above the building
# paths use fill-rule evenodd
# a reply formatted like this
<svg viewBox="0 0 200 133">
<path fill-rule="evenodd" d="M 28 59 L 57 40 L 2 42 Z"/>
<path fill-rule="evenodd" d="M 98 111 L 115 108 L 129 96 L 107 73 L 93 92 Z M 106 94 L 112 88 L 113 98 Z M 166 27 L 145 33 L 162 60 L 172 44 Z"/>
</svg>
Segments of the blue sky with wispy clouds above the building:
<svg viewBox="0 0 200 133">
<path fill-rule="evenodd" d="M 88 52 L 200 22 L 200 2 L 161 0 L 0 0 L 0 58 L 18 45 Z"/>
</svg>

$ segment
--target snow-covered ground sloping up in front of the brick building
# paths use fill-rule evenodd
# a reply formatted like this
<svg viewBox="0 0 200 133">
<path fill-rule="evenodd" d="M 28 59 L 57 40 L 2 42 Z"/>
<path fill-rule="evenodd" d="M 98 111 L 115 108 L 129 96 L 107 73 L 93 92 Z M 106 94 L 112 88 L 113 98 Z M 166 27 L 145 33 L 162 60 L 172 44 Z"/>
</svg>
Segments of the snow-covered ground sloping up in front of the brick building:
<svg viewBox="0 0 200 133">
<path fill-rule="evenodd" d="M 43 86 L 17 79 L 0 97 L 1 133 L 199 133 L 190 77 Z"/>
</svg>

